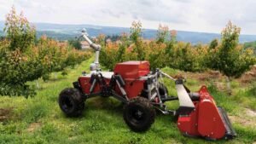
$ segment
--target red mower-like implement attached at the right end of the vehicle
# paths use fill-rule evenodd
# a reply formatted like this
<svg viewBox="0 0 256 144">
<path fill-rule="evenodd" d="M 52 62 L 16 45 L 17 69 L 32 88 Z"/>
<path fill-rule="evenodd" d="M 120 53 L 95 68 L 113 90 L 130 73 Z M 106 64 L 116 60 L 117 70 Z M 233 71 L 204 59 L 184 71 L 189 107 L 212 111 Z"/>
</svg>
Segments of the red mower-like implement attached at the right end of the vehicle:
<svg viewBox="0 0 256 144">
<path fill-rule="evenodd" d="M 189 113 L 182 113 L 177 120 L 178 129 L 189 136 L 202 136 L 207 139 L 231 139 L 236 131 L 227 114 L 221 107 L 217 107 L 212 95 L 202 86 L 199 99 L 193 101 L 195 109 Z"/>
</svg>

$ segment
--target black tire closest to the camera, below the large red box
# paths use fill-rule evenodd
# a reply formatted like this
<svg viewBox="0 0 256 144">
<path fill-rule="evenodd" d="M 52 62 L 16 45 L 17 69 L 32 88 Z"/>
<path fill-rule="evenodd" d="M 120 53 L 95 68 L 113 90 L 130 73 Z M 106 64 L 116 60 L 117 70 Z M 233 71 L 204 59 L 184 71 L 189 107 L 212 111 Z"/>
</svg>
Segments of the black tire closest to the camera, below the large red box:
<svg viewBox="0 0 256 144">
<path fill-rule="evenodd" d="M 155 111 L 148 99 L 137 97 L 124 107 L 125 123 L 136 132 L 146 131 L 154 123 Z"/>
</svg>

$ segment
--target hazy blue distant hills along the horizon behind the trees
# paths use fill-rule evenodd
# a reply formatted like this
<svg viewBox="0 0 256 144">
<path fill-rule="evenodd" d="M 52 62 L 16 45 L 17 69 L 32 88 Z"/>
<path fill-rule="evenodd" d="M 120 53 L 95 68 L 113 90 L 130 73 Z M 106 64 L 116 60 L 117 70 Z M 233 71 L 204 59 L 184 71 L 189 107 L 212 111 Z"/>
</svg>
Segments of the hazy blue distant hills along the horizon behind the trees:
<svg viewBox="0 0 256 144">
<path fill-rule="evenodd" d="M 48 37 L 53 37 L 58 40 L 67 40 L 79 36 L 83 28 L 86 28 L 91 37 L 96 37 L 103 33 L 105 35 L 113 36 L 120 35 L 122 32 L 130 32 L 127 27 L 113 27 L 113 26 L 93 26 L 93 25 L 64 25 L 64 24 L 49 24 L 49 23 L 33 23 L 37 28 L 38 37 L 46 34 Z M 0 21 L 0 30 L 3 30 L 4 22 Z M 157 30 L 143 29 L 143 37 L 152 39 L 156 36 Z M 3 31 L 0 32 L 0 36 Z M 220 34 L 207 32 L 186 32 L 177 31 L 177 40 L 189 43 L 210 43 L 212 39 L 219 38 Z M 256 41 L 256 35 L 241 35 L 240 43 Z"/>
</svg>

